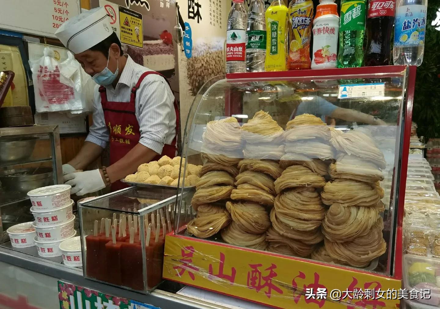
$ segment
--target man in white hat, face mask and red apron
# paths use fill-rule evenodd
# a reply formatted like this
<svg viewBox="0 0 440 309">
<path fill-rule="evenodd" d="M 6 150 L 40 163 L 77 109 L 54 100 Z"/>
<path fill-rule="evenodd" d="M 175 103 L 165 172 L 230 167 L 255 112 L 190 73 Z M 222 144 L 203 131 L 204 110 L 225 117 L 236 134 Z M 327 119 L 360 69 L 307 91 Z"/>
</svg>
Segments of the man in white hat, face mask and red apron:
<svg viewBox="0 0 440 309">
<path fill-rule="evenodd" d="M 98 84 L 93 100 L 93 124 L 79 153 L 62 166 L 72 194 L 84 195 L 110 186 L 140 164 L 176 156 L 179 114 L 176 100 L 161 74 L 123 55 L 121 42 L 103 7 L 65 22 L 56 37 L 73 52 L 84 71 Z M 92 164 L 110 142 L 110 166 L 92 171 Z"/>
</svg>

